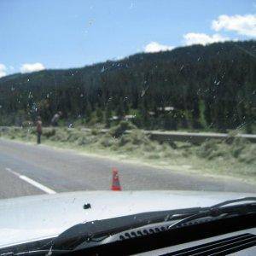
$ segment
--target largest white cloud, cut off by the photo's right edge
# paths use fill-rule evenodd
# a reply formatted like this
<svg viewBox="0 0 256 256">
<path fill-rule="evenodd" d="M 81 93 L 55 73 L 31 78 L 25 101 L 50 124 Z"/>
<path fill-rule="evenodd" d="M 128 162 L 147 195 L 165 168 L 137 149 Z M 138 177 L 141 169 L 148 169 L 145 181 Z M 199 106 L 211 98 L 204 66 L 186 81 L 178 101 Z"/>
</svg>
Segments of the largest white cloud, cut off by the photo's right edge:
<svg viewBox="0 0 256 256">
<path fill-rule="evenodd" d="M 256 15 L 220 15 L 217 20 L 212 20 L 212 29 L 224 29 L 247 37 L 256 37 Z"/>
</svg>

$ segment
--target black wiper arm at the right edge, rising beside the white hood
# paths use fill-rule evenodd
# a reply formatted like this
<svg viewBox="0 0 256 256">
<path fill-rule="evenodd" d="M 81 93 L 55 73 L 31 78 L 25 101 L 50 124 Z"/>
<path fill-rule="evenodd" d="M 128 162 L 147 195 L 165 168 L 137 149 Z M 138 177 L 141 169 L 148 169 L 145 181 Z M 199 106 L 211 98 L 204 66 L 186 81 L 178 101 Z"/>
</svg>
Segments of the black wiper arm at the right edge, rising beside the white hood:
<svg viewBox="0 0 256 256">
<path fill-rule="evenodd" d="M 239 204 L 227 207 L 230 204 L 243 202 L 243 201 L 256 201 L 256 197 L 243 197 L 229 201 L 223 201 L 212 207 L 207 207 L 200 212 L 195 213 L 194 215 L 190 215 L 186 218 L 183 218 L 176 223 L 169 226 L 169 229 L 177 228 L 178 226 L 182 226 L 183 224 L 187 224 L 189 221 L 193 221 L 195 219 L 204 218 L 204 217 L 219 217 L 221 215 L 230 215 L 230 214 L 242 214 L 242 213 L 250 213 L 256 212 L 256 202 L 248 203 L 248 204 Z"/>
</svg>

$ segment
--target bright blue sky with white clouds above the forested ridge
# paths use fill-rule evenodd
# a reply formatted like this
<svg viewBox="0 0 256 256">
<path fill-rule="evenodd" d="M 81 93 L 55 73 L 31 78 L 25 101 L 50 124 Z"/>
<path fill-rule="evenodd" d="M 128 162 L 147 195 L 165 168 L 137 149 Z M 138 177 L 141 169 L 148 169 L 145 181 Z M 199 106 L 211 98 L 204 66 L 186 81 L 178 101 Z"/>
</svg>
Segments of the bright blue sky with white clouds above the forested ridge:
<svg viewBox="0 0 256 256">
<path fill-rule="evenodd" d="M 0 0 L 0 76 L 256 38 L 256 0 Z"/>
</svg>

